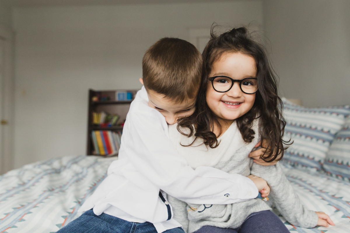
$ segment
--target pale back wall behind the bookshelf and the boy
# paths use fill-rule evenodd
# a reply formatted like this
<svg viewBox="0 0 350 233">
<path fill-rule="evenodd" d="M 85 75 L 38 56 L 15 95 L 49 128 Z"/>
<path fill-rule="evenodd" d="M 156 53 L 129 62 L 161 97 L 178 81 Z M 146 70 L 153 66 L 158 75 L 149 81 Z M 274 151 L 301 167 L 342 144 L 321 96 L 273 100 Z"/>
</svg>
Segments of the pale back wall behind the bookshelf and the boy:
<svg viewBox="0 0 350 233">
<path fill-rule="evenodd" d="M 85 154 L 88 89 L 140 88 L 150 45 L 214 21 L 261 25 L 262 2 L 14 9 L 15 167 Z"/>
</svg>

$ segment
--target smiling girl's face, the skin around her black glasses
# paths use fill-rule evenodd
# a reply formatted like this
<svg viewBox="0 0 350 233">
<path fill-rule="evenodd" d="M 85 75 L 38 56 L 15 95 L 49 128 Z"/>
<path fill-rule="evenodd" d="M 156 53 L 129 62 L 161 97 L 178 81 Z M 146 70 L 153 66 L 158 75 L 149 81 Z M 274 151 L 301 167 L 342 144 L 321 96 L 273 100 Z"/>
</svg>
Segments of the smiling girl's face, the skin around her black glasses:
<svg viewBox="0 0 350 233">
<path fill-rule="evenodd" d="M 241 52 L 224 53 L 213 65 L 210 77 L 225 75 L 232 79 L 255 78 L 257 70 L 254 58 Z M 255 94 L 245 94 L 234 82 L 228 92 L 217 92 L 208 82 L 207 103 L 215 115 L 231 124 L 246 114 L 255 101 Z"/>
</svg>

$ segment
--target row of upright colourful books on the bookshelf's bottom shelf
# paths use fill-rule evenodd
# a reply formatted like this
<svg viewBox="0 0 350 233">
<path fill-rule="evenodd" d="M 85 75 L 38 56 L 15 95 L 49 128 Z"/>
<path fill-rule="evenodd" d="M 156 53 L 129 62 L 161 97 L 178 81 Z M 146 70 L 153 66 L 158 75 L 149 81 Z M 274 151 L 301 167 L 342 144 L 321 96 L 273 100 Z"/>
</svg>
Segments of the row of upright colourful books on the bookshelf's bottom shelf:
<svg viewBox="0 0 350 233">
<path fill-rule="evenodd" d="M 93 130 L 91 131 L 93 154 L 96 155 L 117 155 L 120 148 L 121 132 L 110 130 Z"/>
</svg>

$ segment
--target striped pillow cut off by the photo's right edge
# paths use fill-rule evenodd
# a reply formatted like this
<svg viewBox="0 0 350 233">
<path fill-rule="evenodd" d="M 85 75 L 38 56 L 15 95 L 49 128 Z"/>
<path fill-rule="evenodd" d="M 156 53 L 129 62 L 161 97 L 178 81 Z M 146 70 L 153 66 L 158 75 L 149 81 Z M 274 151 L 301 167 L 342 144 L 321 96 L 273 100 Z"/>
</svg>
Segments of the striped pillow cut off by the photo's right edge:
<svg viewBox="0 0 350 233">
<path fill-rule="evenodd" d="M 335 134 L 323 164 L 328 174 L 350 180 L 350 116 Z"/>
</svg>

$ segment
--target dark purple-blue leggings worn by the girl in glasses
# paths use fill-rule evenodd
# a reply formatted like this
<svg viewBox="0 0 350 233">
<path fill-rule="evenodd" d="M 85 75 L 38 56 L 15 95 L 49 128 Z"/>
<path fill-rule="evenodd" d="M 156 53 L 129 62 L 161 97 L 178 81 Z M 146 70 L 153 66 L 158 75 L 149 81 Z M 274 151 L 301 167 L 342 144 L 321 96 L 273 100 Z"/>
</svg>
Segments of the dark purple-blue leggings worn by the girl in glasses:
<svg viewBox="0 0 350 233">
<path fill-rule="evenodd" d="M 289 230 L 276 214 L 264 210 L 250 214 L 236 229 L 203 226 L 194 233 L 289 233 Z"/>
</svg>

